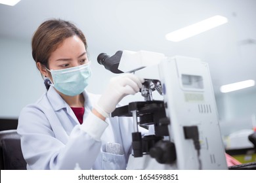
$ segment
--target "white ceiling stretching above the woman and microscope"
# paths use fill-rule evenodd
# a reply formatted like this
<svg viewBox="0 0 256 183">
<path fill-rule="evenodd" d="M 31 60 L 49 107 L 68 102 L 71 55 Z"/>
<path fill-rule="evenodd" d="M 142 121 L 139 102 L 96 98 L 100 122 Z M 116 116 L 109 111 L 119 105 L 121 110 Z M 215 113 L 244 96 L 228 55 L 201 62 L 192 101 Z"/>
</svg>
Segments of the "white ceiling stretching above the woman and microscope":
<svg viewBox="0 0 256 183">
<path fill-rule="evenodd" d="M 181 42 L 165 40 L 166 33 L 217 14 L 228 24 Z M 49 18 L 74 22 L 94 55 L 149 50 L 200 58 L 209 63 L 216 93 L 222 84 L 256 80 L 255 0 L 21 0 L 0 5 L 0 37 L 30 42 Z"/>
</svg>

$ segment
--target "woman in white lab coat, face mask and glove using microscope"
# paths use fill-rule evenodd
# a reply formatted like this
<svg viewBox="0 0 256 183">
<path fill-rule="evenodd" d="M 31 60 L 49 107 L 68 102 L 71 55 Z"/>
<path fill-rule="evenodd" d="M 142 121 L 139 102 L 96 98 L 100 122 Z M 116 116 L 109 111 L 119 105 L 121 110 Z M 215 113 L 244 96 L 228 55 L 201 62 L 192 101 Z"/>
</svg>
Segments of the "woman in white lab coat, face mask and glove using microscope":
<svg viewBox="0 0 256 183">
<path fill-rule="evenodd" d="M 20 113 L 18 133 L 28 169 L 125 169 L 133 123 L 110 118 L 119 101 L 139 92 L 142 80 L 112 78 L 101 96 L 85 91 L 91 76 L 87 42 L 74 24 L 48 20 L 32 39 L 32 56 L 49 90 Z M 106 144 L 118 144 L 112 154 Z"/>
</svg>

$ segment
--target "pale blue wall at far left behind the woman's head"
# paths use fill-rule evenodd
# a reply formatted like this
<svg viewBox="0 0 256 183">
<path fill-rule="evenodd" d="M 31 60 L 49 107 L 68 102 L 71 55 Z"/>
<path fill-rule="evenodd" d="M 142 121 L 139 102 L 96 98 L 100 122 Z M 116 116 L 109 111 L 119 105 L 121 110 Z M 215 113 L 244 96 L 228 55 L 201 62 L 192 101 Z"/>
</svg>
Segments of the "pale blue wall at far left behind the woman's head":
<svg viewBox="0 0 256 183">
<path fill-rule="evenodd" d="M 41 82 L 30 42 L 0 38 L 0 118 L 17 118 L 44 92 Z"/>
</svg>

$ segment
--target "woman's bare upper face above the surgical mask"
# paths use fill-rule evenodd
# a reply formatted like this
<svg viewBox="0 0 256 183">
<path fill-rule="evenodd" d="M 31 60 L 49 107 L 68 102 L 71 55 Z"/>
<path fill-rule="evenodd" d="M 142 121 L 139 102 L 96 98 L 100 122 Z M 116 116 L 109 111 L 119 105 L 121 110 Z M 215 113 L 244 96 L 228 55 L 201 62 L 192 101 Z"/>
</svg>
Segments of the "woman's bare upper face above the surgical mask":
<svg viewBox="0 0 256 183">
<path fill-rule="evenodd" d="M 51 54 L 48 65 L 49 70 L 67 69 L 88 63 L 85 44 L 77 35 L 68 37 Z"/>
</svg>

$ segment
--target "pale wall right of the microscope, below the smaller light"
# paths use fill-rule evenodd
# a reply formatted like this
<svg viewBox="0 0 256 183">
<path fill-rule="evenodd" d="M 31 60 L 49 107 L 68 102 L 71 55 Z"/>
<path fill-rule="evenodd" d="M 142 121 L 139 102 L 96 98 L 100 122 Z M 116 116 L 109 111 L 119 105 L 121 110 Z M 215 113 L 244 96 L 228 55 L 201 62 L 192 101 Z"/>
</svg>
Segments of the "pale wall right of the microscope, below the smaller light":
<svg viewBox="0 0 256 183">
<path fill-rule="evenodd" d="M 256 92 L 252 89 L 223 93 L 216 97 L 223 135 L 252 129 L 256 114 Z"/>
</svg>

